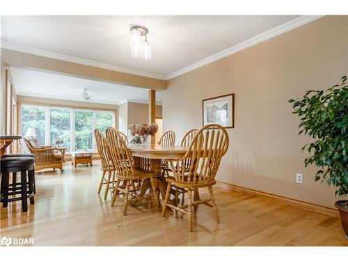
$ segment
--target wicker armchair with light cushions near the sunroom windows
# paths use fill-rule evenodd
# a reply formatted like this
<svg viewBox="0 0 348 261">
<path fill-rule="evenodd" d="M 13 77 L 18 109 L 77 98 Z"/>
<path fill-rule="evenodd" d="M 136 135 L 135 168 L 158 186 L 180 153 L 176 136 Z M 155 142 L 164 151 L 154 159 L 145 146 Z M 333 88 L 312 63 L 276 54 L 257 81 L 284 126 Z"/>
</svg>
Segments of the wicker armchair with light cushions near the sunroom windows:
<svg viewBox="0 0 348 261">
<path fill-rule="evenodd" d="M 65 148 L 54 148 L 48 146 L 40 146 L 34 148 L 28 138 L 20 140 L 20 144 L 24 152 L 32 153 L 35 157 L 35 171 L 44 168 L 59 168 L 63 172 Z"/>
</svg>

